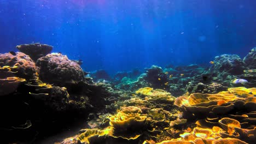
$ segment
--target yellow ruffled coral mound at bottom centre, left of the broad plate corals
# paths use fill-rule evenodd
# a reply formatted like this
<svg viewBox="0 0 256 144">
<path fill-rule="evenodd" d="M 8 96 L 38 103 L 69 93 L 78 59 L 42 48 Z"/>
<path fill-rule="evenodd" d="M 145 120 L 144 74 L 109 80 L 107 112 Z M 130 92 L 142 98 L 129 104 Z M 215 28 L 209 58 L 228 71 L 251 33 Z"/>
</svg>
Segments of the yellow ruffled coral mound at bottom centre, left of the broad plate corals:
<svg viewBox="0 0 256 144">
<path fill-rule="evenodd" d="M 175 98 L 170 93 L 149 87 L 138 89 L 136 93 L 138 96 L 134 95 L 121 104 L 115 115 L 108 116 L 109 126 L 104 129 L 85 129 L 75 142 L 142 143 L 144 139 L 155 139 L 162 135 L 164 129 L 186 122 L 185 119 L 179 119 L 181 114 L 173 105 Z"/>
</svg>

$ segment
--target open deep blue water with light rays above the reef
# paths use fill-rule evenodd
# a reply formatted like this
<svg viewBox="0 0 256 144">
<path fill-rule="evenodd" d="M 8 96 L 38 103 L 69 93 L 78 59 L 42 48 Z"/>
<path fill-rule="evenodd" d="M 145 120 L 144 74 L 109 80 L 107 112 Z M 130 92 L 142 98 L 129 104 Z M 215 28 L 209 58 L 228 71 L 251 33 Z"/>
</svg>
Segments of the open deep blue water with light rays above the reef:
<svg viewBox="0 0 256 144">
<path fill-rule="evenodd" d="M 256 46 L 255 8 L 255 0 L 1 0 L 0 53 L 43 43 L 110 74 L 207 65 Z"/>
</svg>

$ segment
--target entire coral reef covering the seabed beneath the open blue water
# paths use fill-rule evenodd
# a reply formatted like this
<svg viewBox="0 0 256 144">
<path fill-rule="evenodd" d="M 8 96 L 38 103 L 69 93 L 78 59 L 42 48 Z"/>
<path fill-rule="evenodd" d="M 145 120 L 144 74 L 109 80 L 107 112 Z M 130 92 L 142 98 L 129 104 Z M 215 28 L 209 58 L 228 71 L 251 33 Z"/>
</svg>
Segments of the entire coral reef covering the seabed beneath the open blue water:
<svg viewBox="0 0 256 144">
<path fill-rule="evenodd" d="M 153 65 L 143 74 L 123 71 L 112 79 L 104 70 L 84 72 L 81 61 L 61 53 L 46 55 L 47 45 L 17 47 L 27 55 L 0 54 L 5 143 L 37 143 L 78 119 L 85 129 L 61 143 L 255 141 L 255 48 L 243 61 L 218 56 L 210 69 Z"/>
</svg>

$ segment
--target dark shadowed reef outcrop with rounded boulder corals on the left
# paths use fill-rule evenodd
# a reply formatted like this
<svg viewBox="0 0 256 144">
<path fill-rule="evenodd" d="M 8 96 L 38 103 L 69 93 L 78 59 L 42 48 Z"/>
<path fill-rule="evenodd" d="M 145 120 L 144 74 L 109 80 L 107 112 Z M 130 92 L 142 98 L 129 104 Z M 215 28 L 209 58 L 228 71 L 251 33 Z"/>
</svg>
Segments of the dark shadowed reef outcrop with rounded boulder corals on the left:
<svg viewBox="0 0 256 144">
<path fill-rule="evenodd" d="M 85 79 L 82 68 L 60 53 L 40 57 L 37 65 L 22 52 L 0 54 L 3 143 L 34 143 L 104 111 L 114 95 L 106 83 Z"/>
</svg>

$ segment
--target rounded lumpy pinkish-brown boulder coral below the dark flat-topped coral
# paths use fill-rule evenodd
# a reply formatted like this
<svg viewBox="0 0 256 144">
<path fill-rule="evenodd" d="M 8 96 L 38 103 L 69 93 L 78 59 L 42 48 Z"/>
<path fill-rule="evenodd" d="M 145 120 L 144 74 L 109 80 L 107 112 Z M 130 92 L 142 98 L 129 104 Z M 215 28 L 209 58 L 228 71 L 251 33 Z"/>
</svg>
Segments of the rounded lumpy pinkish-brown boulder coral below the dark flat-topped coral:
<svg viewBox="0 0 256 144">
<path fill-rule="evenodd" d="M 49 83 L 79 83 L 84 81 L 84 71 L 79 64 L 72 62 L 66 55 L 51 53 L 37 60 L 39 77 Z"/>
</svg>

